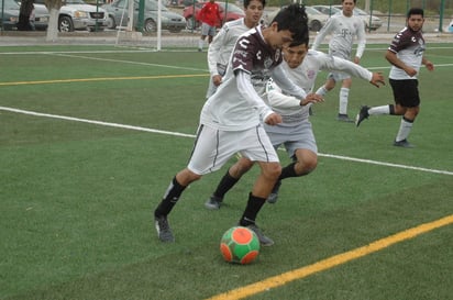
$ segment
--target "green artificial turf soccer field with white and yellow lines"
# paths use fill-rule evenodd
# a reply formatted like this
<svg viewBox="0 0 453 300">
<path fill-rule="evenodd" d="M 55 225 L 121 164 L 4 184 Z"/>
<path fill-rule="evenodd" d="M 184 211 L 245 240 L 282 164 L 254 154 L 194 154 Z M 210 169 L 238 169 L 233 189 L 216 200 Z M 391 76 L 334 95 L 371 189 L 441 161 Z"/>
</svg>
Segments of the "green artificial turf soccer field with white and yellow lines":
<svg viewBox="0 0 453 300">
<path fill-rule="evenodd" d="M 387 79 L 386 47 L 367 45 L 362 65 Z M 339 123 L 339 87 L 313 107 L 318 167 L 263 208 L 276 243 L 240 266 L 219 242 L 257 168 L 219 211 L 203 203 L 228 166 L 191 185 L 169 215 L 174 244 L 154 229 L 191 152 L 206 53 L 0 47 L 0 299 L 451 299 L 452 49 L 428 44 L 435 70 L 419 76 L 416 148 L 393 146 L 396 116 Z M 388 85 L 354 79 L 349 113 L 391 102 Z"/>
</svg>

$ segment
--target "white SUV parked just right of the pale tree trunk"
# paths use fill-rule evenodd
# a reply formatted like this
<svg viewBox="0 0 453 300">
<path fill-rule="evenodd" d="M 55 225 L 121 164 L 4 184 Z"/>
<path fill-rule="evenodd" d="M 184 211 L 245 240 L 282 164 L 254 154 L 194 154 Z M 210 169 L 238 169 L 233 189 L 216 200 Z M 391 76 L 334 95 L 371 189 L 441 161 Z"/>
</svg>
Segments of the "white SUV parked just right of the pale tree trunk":
<svg viewBox="0 0 453 300">
<path fill-rule="evenodd" d="M 87 4 L 82 0 L 63 1 L 58 14 L 58 31 L 70 32 L 75 30 L 103 30 L 107 26 L 107 13 L 103 9 Z M 44 0 L 34 0 L 36 11 L 48 10 Z"/>
</svg>

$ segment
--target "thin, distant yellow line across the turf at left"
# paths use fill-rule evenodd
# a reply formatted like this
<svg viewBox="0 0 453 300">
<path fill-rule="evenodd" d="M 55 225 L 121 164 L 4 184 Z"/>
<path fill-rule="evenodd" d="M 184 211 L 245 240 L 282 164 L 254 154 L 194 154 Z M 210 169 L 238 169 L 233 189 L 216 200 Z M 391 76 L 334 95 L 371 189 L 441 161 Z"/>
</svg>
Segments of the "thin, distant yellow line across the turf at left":
<svg viewBox="0 0 453 300">
<path fill-rule="evenodd" d="M 168 79 L 168 78 L 207 77 L 207 76 L 209 76 L 209 74 L 133 76 L 133 77 L 100 77 L 100 78 L 80 78 L 80 79 L 55 79 L 55 80 L 40 80 L 40 81 L 0 82 L 0 86 L 70 84 L 70 82 L 110 81 L 110 80 Z"/>
</svg>

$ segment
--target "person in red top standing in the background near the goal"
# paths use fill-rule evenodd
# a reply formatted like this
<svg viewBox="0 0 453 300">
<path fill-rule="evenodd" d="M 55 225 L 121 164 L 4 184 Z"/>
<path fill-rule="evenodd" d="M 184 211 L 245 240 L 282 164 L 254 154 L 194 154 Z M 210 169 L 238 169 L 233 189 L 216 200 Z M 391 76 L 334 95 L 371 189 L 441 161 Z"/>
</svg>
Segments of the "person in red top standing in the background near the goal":
<svg viewBox="0 0 453 300">
<path fill-rule="evenodd" d="M 197 20 L 201 22 L 201 36 L 198 41 L 198 51 L 202 52 L 206 37 L 208 36 L 208 44 L 210 44 L 216 35 L 217 22 L 222 22 L 220 7 L 216 3 L 216 0 L 209 0 L 209 2 L 201 8 L 198 12 Z"/>
</svg>

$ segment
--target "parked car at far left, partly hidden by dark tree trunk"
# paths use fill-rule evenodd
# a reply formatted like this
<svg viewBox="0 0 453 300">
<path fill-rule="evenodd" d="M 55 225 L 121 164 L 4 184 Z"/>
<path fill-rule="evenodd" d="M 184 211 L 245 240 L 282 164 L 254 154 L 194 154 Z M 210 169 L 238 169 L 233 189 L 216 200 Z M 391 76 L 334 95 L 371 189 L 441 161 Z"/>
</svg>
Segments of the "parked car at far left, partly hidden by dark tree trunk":
<svg viewBox="0 0 453 300">
<path fill-rule="evenodd" d="M 4 8 L 2 7 L 4 2 Z M 1 19 L 2 30 L 16 30 L 19 22 L 20 3 L 14 0 L 0 1 L 0 13 L 3 12 Z M 36 30 L 46 30 L 48 24 L 48 13 L 41 13 L 35 10 L 34 25 Z"/>
</svg>

